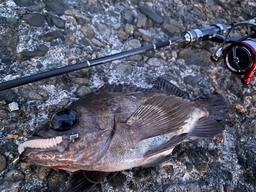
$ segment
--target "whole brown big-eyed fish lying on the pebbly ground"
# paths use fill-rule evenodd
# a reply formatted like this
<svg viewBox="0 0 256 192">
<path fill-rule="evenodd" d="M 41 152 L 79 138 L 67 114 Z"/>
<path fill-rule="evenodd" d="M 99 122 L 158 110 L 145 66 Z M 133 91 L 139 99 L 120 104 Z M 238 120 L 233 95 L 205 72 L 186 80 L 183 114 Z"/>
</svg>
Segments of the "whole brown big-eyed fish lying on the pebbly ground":
<svg viewBox="0 0 256 192">
<path fill-rule="evenodd" d="M 221 135 L 232 113 L 227 99 L 188 96 L 161 77 L 151 89 L 104 84 L 55 111 L 19 145 L 19 160 L 67 170 L 65 191 L 90 191 L 112 172 L 168 160 L 181 142 Z"/>
</svg>

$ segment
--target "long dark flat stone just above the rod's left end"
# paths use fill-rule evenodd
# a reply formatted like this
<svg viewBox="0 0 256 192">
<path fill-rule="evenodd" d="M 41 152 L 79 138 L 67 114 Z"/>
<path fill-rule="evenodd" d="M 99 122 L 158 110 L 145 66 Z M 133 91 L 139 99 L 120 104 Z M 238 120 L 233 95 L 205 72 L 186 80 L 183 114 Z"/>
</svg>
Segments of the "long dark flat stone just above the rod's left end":
<svg viewBox="0 0 256 192">
<path fill-rule="evenodd" d="M 18 54 L 19 62 L 23 62 L 25 60 L 31 59 L 33 57 L 42 57 L 45 56 L 48 52 L 49 48 L 45 45 L 40 45 L 37 47 L 35 51 L 22 51 Z"/>
</svg>

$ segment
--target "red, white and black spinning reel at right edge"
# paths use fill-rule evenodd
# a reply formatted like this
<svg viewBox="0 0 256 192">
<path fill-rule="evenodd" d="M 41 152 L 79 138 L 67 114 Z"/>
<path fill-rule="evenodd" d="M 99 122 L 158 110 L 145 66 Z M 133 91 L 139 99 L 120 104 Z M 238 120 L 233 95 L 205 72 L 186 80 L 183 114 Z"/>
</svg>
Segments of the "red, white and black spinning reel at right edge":
<svg viewBox="0 0 256 192">
<path fill-rule="evenodd" d="M 240 25 L 255 25 L 252 23 L 240 23 L 234 25 L 227 34 L 223 45 L 217 52 L 211 56 L 212 61 L 224 59 L 226 68 L 235 75 L 244 75 L 242 82 L 249 84 L 251 77 L 256 70 L 256 34 L 248 35 L 223 49 L 226 39 L 234 28 Z"/>
</svg>

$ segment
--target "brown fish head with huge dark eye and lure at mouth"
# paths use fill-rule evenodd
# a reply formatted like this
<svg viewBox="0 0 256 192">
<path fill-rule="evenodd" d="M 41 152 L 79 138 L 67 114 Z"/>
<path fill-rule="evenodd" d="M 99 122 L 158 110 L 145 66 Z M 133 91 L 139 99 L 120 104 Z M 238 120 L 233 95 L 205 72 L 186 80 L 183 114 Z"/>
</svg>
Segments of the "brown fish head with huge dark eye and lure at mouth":
<svg viewBox="0 0 256 192">
<path fill-rule="evenodd" d="M 45 139 L 45 142 L 39 147 L 23 143 L 25 151 L 19 159 L 37 166 L 75 171 L 80 166 L 92 165 L 105 154 L 110 144 L 112 127 L 112 115 L 98 110 L 97 103 L 85 104 L 80 99 L 68 108 L 54 112 L 50 120 L 28 139 Z M 46 139 L 57 137 L 62 137 L 62 141 L 48 147 L 50 141 Z"/>
</svg>

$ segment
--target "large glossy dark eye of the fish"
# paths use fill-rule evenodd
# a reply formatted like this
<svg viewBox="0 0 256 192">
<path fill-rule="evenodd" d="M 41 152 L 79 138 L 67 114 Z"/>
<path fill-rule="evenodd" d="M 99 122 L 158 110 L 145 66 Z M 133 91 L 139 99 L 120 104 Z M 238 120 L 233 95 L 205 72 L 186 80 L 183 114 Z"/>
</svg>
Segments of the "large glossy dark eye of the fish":
<svg viewBox="0 0 256 192">
<path fill-rule="evenodd" d="M 49 125 L 56 131 L 68 131 L 78 122 L 78 115 L 71 109 L 60 109 L 50 118 Z"/>
</svg>

